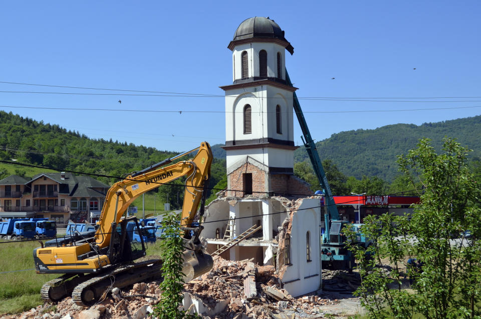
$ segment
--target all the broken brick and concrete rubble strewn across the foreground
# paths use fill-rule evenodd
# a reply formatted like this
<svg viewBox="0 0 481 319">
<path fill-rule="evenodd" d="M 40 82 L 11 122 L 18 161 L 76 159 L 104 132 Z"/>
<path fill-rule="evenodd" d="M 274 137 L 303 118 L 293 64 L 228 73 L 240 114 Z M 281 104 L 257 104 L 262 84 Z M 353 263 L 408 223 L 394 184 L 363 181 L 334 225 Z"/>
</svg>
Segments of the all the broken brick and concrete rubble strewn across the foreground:
<svg viewBox="0 0 481 319">
<path fill-rule="evenodd" d="M 343 273 L 325 273 L 332 278 L 348 278 L 353 284 L 353 276 Z M 336 279 L 337 280 L 337 279 Z M 67 297 L 53 307 L 45 303 L 30 311 L 13 316 L 0 316 L 0 319 L 73 319 L 73 318 L 147 318 L 153 312 L 152 302 L 161 299 L 158 281 L 141 282 L 109 293 L 96 305 L 77 306 Z M 112 291 L 113 292 L 113 291 Z M 184 284 L 184 310 L 197 312 L 210 319 L 288 319 L 294 317 L 320 317 L 322 306 L 333 305 L 336 300 L 311 295 L 293 298 L 282 288 L 281 280 L 274 266 L 258 266 L 251 260 L 230 261 L 214 257 L 210 272 Z M 55 311 L 52 311 L 55 309 Z M 48 313 L 49 315 L 44 315 Z"/>
</svg>

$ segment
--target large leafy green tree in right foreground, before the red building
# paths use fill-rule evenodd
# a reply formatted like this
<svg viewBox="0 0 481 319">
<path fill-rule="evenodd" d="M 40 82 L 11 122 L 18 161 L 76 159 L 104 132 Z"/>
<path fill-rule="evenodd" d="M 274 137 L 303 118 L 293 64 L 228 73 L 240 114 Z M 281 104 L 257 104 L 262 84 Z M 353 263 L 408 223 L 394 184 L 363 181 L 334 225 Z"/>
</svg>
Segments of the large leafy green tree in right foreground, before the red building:
<svg viewBox="0 0 481 319">
<path fill-rule="evenodd" d="M 363 277 L 356 293 L 370 317 L 481 316 L 481 191 L 466 165 L 469 150 L 447 137 L 442 150 L 437 154 L 430 139 L 421 139 L 417 148 L 398 156 L 401 171 L 424 187 L 420 204 L 410 221 L 390 214 L 365 219 L 361 231 L 373 241 L 372 258 L 350 247 Z M 459 233 L 460 239 L 451 239 Z M 408 257 L 419 267 L 408 267 Z M 404 269 L 414 278 L 413 293 L 403 289 Z"/>
</svg>

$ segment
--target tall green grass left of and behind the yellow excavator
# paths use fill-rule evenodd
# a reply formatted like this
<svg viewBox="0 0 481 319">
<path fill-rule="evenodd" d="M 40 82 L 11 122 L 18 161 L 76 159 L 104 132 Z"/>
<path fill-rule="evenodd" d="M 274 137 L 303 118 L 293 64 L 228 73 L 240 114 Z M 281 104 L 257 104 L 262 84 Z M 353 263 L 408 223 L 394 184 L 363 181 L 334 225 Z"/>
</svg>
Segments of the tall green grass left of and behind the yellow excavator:
<svg viewBox="0 0 481 319">
<path fill-rule="evenodd" d="M 43 304 L 40 288 L 45 282 L 60 276 L 35 272 L 32 253 L 36 247 L 39 247 L 37 241 L 0 244 L 0 316 Z M 148 245 L 147 255 L 160 255 L 158 241 Z"/>
</svg>

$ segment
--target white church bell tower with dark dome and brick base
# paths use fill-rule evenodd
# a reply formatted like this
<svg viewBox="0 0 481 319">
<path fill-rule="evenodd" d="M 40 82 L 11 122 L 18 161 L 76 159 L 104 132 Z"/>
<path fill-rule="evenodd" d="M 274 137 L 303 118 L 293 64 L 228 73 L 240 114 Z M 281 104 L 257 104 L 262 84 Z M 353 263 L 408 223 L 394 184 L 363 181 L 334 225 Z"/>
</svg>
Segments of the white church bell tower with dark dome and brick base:
<svg viewBox="0 0 481 319">
<path fill-rule="evenodd" d="M 293 92 L 286 84 L 286 52 L 294 48 L 269 18 L 245 20 L 235 31 L 231 85 L 225 91 L 227 188 L 230 196 L 299 192 L 293 175 Z M 305 186 L 303 185 L 303 188 Z M 258 193 L 256 193 L 258 192 Z"/>
</svg>

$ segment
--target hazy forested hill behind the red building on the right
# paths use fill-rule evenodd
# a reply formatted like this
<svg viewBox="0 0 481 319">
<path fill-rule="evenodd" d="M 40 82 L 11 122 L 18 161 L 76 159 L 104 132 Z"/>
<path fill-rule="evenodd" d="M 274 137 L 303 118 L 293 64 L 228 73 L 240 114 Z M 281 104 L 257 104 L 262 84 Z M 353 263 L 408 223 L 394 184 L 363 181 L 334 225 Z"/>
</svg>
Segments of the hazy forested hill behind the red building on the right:
<svg viewBox="0 0 481 319">
<path fill-rule="evenodd" d="M 455 137 L 461 145 L 473 149 L 469 157 L 481 158 L 481 116 L 414 124 L 394 124 L 376 129 L 358 129 L 332 134 L 316 143 L 322 160 L 331 159 L 342 173 L 378 177 L 391 182 L 397 175 L 396 155 L 414 148 L 419 138 L 429 137 L 437 151 L 444 136 Z M 304 147 L 294 152 L 294 162 L 309 161 Z"/>
</svg>

